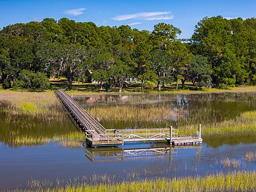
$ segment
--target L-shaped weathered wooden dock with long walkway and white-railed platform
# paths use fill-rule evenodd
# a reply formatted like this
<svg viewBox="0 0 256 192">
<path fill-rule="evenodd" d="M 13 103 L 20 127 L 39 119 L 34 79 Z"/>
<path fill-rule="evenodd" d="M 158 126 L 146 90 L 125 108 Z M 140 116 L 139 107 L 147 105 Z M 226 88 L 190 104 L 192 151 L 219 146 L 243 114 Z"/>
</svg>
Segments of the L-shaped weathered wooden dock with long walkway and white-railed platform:
<svg viewBox="0 0 256 192">
<path fill-rule="evenodd" d="M 201 124 L 197 134 L 191 137 L 178 137 L 172 126 L 157 129 L 105 129 L 81 105 L 62 89 L 55 90 L 57 97 L 69 111 L 71 118 L 86 134 L 89 147 L 115 147 L 127 142 L 167 141 L 170 145 L 201 145 Z"/>
</svg>

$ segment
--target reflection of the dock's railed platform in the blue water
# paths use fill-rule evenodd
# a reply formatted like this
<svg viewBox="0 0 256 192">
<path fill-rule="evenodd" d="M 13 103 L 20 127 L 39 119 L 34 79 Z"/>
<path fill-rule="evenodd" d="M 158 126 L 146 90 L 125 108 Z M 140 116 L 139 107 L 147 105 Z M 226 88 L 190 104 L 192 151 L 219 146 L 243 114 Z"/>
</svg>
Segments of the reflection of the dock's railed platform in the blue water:
<svg viewBox="0 0 256 192">
<path fill-rule="evenodd" d="M 161 159 L 169 154 L 169 159 L 171 160 L 173 155 L 177 155 L 178 149 L 198 149 L 198 154 L 200 155 L 201 148 L 201 145 L 138 149 L 85 147 L 85 157 L 93 162 L 106 162 L 123 161 L 125 159 Z"/>
</svg>

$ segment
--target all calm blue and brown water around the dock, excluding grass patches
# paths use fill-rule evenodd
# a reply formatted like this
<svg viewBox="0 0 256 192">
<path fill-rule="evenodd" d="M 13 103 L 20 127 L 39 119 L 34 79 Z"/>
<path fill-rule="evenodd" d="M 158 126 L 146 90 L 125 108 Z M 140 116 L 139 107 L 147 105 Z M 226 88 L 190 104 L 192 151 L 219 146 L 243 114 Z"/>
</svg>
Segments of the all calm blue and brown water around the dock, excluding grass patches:
<svg viewBox="0 0 256 192">
<path fill-rule="evenodd" d="M 186 121 L 171 119 L 183 125 L 197 122 L 223 121 L 245 111 L 255 110 L 255 94 L 213 94 L 213 95 L 119 95 L 82 98 L 77 101 L 84 107 L 106 107 L 108 105 L 159 105 L 170 110 L 185 111 L 186 118 L 195 111 L 207 113 L 194 115 Z M 90 101 L 91 102 L 88 102 Z M 92 101 L 93 100 L 93 101 Z M 179 117 L 179 113 L 177 113 Z M 185 118 L 185 117 L 184 117 Z M 101 122 L 106 127 L 138 127 L 136 123 Z M 61 147 L 55 143 L 44 145 L 16 146 L 5 139 L 17 131 L 21 135 L 52 137 L 54 134 L 74 131 L 75 126 L 68 115 L 63 122 L 40 122 L 35 119 L 15 119 L 8 121 L 0 113 L 0 189 L 27 186 L 27 181 L 83 181 L 93 182 L 95 176 L 107 175 L 115 181 L 155 177 L 177 177 L 187 175 L 207 175 L 219 171 L 233 171 L 233 167 L 223 167 L 221 160 L 229 157 L 241 161 L 238 170 L 256 169 L 256 163 L 248 163 L 243 157 L 249 151 L 256 152 L 256 135 L 225 135 L 205 137 L 203 146 L 192 149 L 170 148 L 165 143 L 130 143 L 120 149 L 89 149 L 83 146 L 75 149 Z M 159 125 L 160 126 L 160 125 Z M 17 132 L 15 132 L 17 133 Z"/>
</svg>

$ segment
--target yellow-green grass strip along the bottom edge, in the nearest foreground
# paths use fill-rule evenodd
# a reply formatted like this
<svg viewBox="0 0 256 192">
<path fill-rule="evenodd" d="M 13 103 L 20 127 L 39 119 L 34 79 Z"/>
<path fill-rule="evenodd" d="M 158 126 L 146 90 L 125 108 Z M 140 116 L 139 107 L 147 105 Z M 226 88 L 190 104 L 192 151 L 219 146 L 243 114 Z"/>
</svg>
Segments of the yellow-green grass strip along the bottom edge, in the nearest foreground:
<svg viewBox="0 0 256 192">
<path fill-rule="evenodd" d="M 70 184 L 65 187 L 34 188 L 26 191 L 255 191 L 256 171 L 232 172 L 224 175 L 205 177 L 181 177 L 174 179 L 145 179 L 142 181 L 123 181 L 121 183 Z M 20 191 L 20 190 L 16 190 Z"/>
</svg>

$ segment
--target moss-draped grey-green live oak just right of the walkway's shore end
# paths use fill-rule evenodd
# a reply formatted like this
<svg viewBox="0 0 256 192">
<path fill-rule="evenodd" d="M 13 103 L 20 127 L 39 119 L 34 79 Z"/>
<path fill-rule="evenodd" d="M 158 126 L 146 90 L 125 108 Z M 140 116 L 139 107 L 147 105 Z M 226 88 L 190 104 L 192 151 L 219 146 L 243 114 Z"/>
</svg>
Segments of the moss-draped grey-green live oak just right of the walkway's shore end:
<svg viewBox="0 0 256 192">
<path fill-rule="evenodd" d="M 88 53 L 83 46 L 54 43 L 39 49 L 37 57 L 44 63 L 47 71 L 55 77 L 63 75 L 68 80 L 68 89 L 73 81 L 83 81 L 88 69 Z"/>
</svg>

